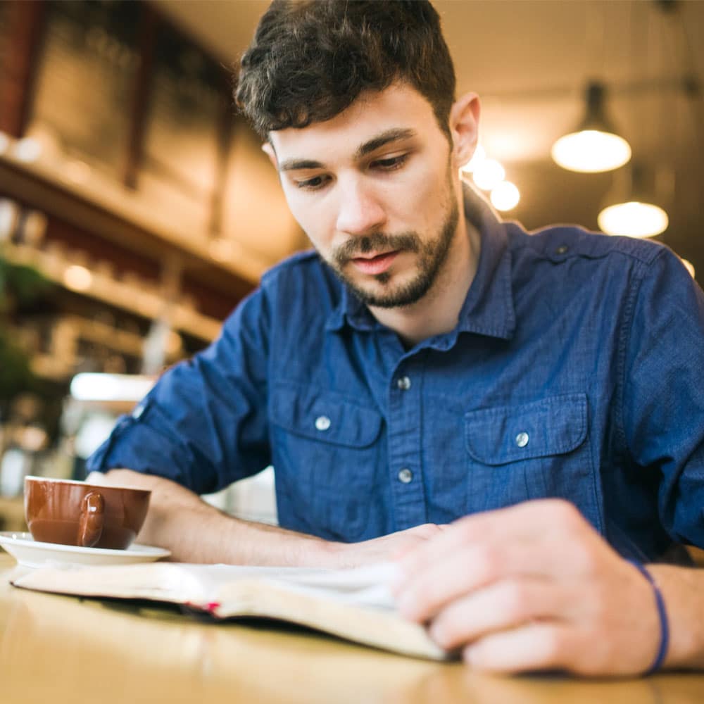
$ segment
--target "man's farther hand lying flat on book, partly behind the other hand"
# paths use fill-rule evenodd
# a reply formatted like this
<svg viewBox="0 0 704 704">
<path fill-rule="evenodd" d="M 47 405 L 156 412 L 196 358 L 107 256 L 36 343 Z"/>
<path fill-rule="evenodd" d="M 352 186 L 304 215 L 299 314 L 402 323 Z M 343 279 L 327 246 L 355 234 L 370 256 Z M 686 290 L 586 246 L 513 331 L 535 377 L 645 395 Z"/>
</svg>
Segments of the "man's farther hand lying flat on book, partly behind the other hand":
<svg viewBox="0 0 704 704">
<path fill-rule="evenodd" d="M 414 548 L 439 536 L 446 526 L 424 523 L 360 543 L 334 543 L 334 567 L 358 567 L 398 560 Z"/>
</svg>

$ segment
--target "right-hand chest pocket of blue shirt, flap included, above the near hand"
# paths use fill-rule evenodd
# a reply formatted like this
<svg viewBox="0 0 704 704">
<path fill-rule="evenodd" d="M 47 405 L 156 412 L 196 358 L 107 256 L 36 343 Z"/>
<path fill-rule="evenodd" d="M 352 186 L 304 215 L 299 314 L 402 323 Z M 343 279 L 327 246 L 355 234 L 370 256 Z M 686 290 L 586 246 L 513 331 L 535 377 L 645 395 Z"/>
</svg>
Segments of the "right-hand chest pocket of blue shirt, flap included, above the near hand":
<svg viewBox="0 0 704 704">
<path fill-rule="evenodd" d="M 586 394 L 465 413 L 472 510 L 561 497 L 600 524 L 588 425 Z"/>
</svg>

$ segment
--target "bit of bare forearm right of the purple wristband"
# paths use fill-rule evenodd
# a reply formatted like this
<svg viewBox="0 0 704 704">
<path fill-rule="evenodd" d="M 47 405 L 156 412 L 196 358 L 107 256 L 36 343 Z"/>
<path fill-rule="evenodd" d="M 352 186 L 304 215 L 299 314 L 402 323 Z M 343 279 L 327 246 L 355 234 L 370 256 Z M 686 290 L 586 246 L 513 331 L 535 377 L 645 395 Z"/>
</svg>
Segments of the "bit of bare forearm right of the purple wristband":
<svg viewBox="0 0 704 704">
<path fill-rule="evenodd" d="M 648 565 L 665 601 L 670 647 L 665 667 L 704 668 L 704 570 Z"/>
</svg>

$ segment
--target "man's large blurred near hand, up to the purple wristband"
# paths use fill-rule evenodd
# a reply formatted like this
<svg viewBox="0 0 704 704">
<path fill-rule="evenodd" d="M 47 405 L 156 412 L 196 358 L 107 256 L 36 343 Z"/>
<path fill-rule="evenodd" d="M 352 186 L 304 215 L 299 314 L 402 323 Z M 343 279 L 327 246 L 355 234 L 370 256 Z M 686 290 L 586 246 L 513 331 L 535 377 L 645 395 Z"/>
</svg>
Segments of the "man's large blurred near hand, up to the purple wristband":
<svg viewBox="0 0 704 704">
<path fill-rule="evenodd" d="M 566 501 L 465 517 L 399 566 L 401 613 L 482 670 L 640 674 L 658 650 L 650 584 Z"/>
</svg>

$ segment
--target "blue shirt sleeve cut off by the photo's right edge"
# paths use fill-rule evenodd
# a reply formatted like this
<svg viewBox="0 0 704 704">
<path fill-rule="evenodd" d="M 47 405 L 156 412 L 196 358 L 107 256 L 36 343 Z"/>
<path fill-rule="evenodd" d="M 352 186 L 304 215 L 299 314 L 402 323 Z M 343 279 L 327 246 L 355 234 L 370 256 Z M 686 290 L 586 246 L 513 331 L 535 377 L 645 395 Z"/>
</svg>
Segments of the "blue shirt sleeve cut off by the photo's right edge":
<svg viewBox="0 0 704 704">
<path fill-rule="evenodd" d="M 629 452 L 660 475 L 672 539 L 704 546 L 704 294 L 667 249 L 641 280 L 621 353 Z"/>
</svg>

